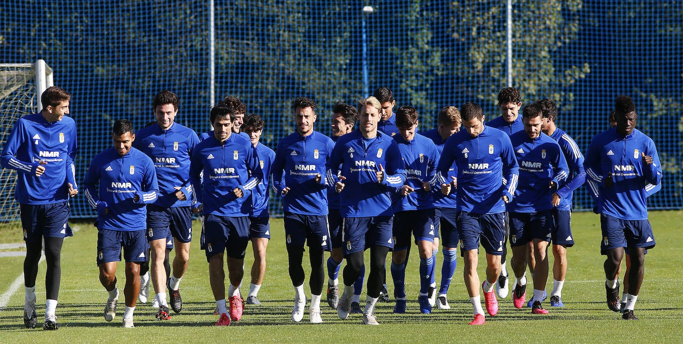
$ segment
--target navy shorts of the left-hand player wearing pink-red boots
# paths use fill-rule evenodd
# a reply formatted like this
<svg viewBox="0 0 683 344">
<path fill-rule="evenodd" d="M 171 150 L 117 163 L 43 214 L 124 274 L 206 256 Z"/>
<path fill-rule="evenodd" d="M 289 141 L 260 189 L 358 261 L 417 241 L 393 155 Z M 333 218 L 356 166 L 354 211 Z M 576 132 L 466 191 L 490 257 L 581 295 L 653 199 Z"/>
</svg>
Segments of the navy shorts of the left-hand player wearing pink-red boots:
<svg viewBox="0 0 683 344">
<path fill-rule="evenodd" d="M 249 216 L 204 215 L 204 244 L 206 261 L 227 250 L 227 256 L 245 259 L 249 244 Z"/>
</svg>

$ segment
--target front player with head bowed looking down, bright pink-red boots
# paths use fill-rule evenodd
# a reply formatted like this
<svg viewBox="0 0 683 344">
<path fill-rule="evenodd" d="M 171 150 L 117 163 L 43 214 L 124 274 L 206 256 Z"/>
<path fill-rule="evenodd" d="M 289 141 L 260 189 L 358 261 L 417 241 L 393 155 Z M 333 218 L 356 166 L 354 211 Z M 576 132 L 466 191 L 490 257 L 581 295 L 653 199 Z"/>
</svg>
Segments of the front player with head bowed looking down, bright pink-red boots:
<svg viewBox="0 0 683 344">
<path fill-rule="evenodd" d="M 460 255 L 464 261 L 463 275 L 474 307 L 474 320 L 469 324 L 482 325 L 486 319 L 477 275 L 479 242 L 486 250 L 486 281 L 482 284 L 486 311 L 489 315 L 496 315 L 498 300 L 493 289 L 501 273 L 500 257 L 505 235 L 503 213 L 505 203 L 512 200 L 517 187 L 518 166 L 510 138 L 500 130 L 484 125 L 484 113 L 479 105 L 463 104 L 460 116 L 465 130 L 447 139 L 436 170 L 444 195 L 456 189 L 460 210 L 456 220 Z M 451 179 L 447 182 L 445 176 L 454 162 L 457 181 Z"/>
</svg>

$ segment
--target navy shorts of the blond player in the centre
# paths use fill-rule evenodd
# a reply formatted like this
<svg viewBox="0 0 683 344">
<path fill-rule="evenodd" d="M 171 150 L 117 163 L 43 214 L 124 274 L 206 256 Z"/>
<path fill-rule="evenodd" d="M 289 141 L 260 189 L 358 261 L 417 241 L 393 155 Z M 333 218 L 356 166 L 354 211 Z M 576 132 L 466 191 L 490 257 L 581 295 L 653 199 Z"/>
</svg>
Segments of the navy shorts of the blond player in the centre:
<svg viewBox="0 0 683 344">
<path fill-rule="evenodd" d="M 392 225 L 393 216 L 344 218 L 344 255 L 374 245 L 393 248 Z"/>
</svg>

